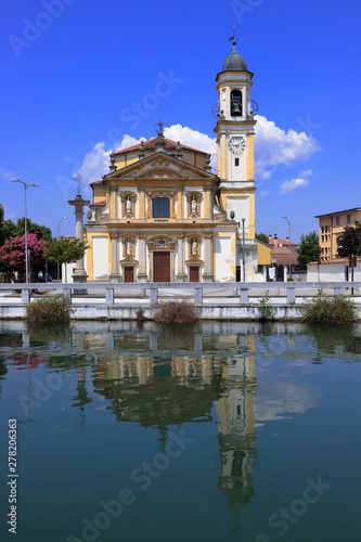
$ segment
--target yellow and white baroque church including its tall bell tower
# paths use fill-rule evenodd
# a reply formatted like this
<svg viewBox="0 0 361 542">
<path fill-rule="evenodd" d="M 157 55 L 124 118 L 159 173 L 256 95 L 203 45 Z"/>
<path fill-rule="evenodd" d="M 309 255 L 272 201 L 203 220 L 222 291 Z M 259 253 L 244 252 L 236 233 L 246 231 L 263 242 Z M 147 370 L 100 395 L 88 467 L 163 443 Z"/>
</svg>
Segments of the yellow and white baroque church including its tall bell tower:
<svg viewBox="0 0 361 542">
<path fill-rule="evenodd" d="M 88 280 L 255 280 L 253 74 L 235 44 L 216 78 L 217 175 L 210 155 L 166 139 L 162 122 L 156 138 L 113 153 L 91 184 Z"/>
</svg>

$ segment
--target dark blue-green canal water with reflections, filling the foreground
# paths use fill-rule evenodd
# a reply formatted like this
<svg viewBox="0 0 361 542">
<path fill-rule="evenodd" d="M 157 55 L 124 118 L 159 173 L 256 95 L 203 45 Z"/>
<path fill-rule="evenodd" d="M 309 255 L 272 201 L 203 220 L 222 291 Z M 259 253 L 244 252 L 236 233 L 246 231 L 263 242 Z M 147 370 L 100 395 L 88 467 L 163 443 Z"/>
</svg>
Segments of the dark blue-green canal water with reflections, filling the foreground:
<svg viewBox="0 0 361 542">
<path fill-rule="evenodd" d="M 2 322 L 1 540 L 359 542 L 360 361 L 360 325 Z"/>
</svg>

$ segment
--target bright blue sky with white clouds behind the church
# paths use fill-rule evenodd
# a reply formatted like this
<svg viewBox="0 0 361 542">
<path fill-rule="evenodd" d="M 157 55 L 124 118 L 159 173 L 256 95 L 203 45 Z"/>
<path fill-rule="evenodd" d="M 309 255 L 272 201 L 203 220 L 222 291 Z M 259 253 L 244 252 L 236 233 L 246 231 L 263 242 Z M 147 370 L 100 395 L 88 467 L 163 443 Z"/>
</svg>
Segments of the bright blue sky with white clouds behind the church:
<svg viewBox="0 0 361 542">
<path fill-rule="evenodd" d="M 81 169 L 155 136 L 214 149 L 215 78 L 232 50 L 255 74 L 256 231 L 292 238 L 361 205 L 360 18 L 354 0 L 17 0 L 0 22 L 0 203 L 74 235 Z M 89 189 L 82 193 L 90 196 Z"/>
</svg>

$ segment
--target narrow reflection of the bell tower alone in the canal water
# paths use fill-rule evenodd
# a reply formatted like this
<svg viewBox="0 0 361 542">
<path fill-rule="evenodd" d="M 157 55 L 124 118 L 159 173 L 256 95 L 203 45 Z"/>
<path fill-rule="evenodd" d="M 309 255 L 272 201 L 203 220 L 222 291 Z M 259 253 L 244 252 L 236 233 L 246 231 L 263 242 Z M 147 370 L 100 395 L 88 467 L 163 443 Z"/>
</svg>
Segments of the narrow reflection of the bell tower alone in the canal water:
<svg viewBox="0 0 361 542">
<path fill-rule="evenodd" d="M 228 494 L 230 507 L 236 511 L 254 494 L 255 357 L 240 354 L 228 360 L 222 386 L 223 393 L 217 404 L 221 456 L 218 485 Z"/>
</svg>

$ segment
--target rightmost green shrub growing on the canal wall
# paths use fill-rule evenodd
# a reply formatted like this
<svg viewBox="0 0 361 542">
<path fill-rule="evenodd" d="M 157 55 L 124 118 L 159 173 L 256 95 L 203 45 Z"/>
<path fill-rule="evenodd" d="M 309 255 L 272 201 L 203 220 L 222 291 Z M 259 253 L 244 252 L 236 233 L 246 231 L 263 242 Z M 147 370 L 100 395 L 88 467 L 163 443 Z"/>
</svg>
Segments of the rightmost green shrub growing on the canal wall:
<svg viewBox="0 0 361 542">
<path fill-rule="evenodd" d="M 317 297 L 302 310 L 305 322 L 317 324 L 346 324 L 354 322 L 357 312 L 353 301 L 345 296 L 326 297 L 319 291 Z"/>
</svg>

